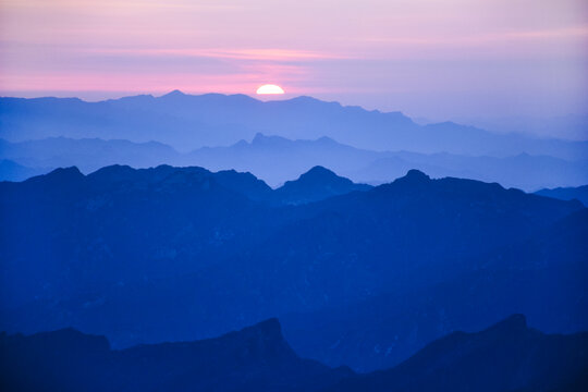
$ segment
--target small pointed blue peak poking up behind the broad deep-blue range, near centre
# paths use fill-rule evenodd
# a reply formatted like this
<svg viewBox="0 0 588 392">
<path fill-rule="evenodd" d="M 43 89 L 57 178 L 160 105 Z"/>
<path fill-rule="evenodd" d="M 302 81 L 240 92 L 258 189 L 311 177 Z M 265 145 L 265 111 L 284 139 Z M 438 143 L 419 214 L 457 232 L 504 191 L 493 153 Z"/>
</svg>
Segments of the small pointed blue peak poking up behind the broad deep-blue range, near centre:
<svg viewBox="0 0 588 392">
<path fill-rule="evenodd" d="M 354 184 L 322 167 L 314 167 L 296 181 L 289 181 L 275 191 L 284 204 L 305 204 L 344 195 L 353 191 L 368 191 L 370 185 Z"/>
</svg>

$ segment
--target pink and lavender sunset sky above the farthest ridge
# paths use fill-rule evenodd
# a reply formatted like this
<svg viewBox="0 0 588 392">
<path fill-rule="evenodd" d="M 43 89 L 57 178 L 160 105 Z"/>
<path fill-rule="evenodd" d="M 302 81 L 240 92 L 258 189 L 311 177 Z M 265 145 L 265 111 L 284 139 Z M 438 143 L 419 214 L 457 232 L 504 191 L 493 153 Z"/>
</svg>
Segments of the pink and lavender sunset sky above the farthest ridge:
<svg viewBox="0 0 588 392">
<path fill-rule="evenodd" d="M 585 0 L 0 0 L 0 95 L 298 95 L 431 120 L 588 112 Z"/>
</svg>

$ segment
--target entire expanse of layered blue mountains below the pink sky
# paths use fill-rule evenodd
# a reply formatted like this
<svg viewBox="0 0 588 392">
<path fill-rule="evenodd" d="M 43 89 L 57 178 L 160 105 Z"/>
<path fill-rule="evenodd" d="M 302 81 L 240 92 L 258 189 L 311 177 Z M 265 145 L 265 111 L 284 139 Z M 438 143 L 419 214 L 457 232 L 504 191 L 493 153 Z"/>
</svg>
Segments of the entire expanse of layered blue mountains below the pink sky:
<svg viewBox="0 0 588 392">
<path fill-rule="evenodd" d="M 0 98 L 0 385 L 581 390 L 588 142 L 523 133 Z"/>
</svg>

